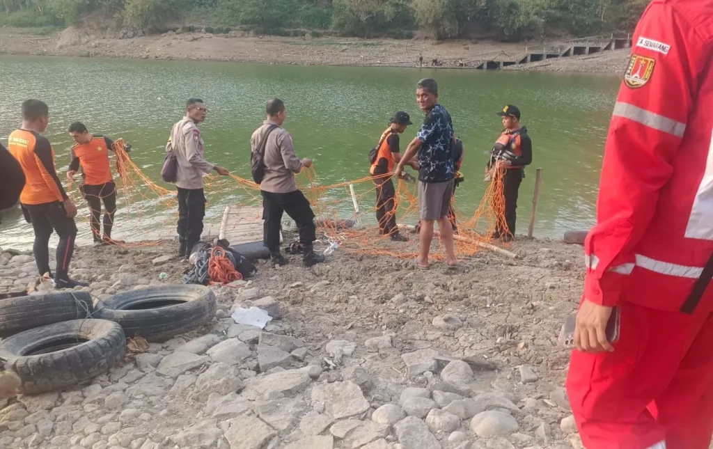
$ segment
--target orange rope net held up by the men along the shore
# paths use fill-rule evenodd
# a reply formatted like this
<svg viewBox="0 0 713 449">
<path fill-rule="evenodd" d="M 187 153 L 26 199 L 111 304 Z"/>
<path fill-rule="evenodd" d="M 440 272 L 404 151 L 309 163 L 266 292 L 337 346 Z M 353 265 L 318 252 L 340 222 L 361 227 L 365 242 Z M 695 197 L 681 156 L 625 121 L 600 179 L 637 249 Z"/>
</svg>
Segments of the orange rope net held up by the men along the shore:
<svg viewBox="0 0 713 449">
<path fill-rule="evenodd" d="M 173 238 L 173 224 L 178 217 L 178 202 L 175 190 L 170 190 L 151 180 L 138 167 L 125 151 L 123 139 L 118 139 L 113 145 L 117 159 L 117 169 L 120 180 L 117 180 L 117 190 L 120 204 L 125 208 L 125 215 L 130 216 L 130 222 L 122 226 L 136 229 L 131 233 L 131 246 L 147 245 L 156 239 Z M 503 195 L 503 175 L 506 169 L 496 167 L 491 171 L 489 182 L 483 198 L 471 216 L 465 216 L 458 209 L 456 195 L 453 195 L 451 205 L 451 220 L 457 223 L 458 232 L 455 236 L 456 255 L 468 257 L 481 251 L 483 246 L 492 243 L 492 234 L 496 229 L 506 229 L 505 198 Z M 317 230 L 319 242 L 337 244 L 347 252 L 360 254 L 381 254 L 399 259 L 413 258 L 417 254 L 417 246 L 392 242 L 389 236 L 379 232 L 376 222 L 376 183 L 374 180 L 384 180 L 390 175 L 376 177 L 361 177 L 356 180 L 339 182 L 332 185 L 322 185 L 314 167 L 303 170 L 297 175 L 297 183 L 312 204 L 317 215 Z M 260 186 L 236 175 L 218 177 L 211 175 L 206 178 L 205 192 L 211 197 L 227 197 L 231 205 L 261 206 Z M 394 211 L 399 223 L 416 224 L 419 222 L 419 203 L 416 195 L 416 182 L 394 178 L 396 195 Z M 116 219 L 115 219 L 116 220 Z M 125 219 L 123 219 L 125 220 Z M 157 225 L 160 223 L 160 226 Z M 401 225 L 401 234 L 409 235 L 414 230 L 413 225 Z M 158 238 L 143 235 L 138 229 L 145 227 L 160 227 L 163 234 Z M 155 234 L 154 234 L 155 235 Z M 417 240 L 418 235 L 411 234 L 411 239 Z M 123 242 L 122 242 L 123 243 Z M 445 257 L 441 251 L 441 241 L 434 237 L 438 248 L 431 251 L 433 259 Z"/>
</svg>

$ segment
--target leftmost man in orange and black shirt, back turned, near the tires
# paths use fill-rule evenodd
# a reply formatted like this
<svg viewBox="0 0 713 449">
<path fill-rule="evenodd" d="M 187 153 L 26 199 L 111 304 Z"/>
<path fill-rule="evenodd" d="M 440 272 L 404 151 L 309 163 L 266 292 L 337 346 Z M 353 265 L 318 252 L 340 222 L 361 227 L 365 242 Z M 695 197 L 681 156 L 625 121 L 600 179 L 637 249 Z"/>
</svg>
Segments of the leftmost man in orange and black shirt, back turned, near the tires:
<svg viewBox="0 0 713 449">
<path fill-rule="evenodd" d="M 54 167 L 54 150 L 40 135 L 47 129 L 49 108 L 40 100 L 22 103 L 22 127 L 8 138 L 9 150 L 19 162 L 26 177 L 20 194 L 25 219 L 35 232 L 33 253 L 40 276 L 51 274 L 49 238 L 54 230 L 59 236 L 54 281 L 59 289 L 86 287 L 88 284 L 69 279 L 69 264 L 74 252 L 77 208 L 67 197 Z"/>
</svg>

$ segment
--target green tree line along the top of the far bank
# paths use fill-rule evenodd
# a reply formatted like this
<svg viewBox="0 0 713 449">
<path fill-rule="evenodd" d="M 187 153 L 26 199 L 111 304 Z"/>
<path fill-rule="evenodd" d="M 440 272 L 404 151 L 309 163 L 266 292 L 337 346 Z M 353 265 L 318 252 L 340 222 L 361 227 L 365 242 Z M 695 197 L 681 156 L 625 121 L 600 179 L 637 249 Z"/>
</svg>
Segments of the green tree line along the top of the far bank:
<svg viewBox="0 0 713 449">
<path fill-rule="evenodd" d="M 207 31 L 502 41 L 630 32 L 648 0 L 0 0 L 0 26 L 68 26 L 90 14 L 160 32 Z M 209 30 L 210 29 L 210 30 Z"/>
</svg>

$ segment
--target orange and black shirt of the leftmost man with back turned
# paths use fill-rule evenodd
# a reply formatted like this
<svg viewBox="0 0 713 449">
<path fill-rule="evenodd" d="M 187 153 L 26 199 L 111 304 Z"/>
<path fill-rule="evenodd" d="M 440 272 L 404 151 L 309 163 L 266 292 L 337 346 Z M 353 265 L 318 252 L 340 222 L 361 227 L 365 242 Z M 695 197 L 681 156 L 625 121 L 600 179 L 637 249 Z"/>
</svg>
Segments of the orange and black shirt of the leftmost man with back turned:
<svg viewBox="0 0 713 449">
<path fill-rule="evenodd" d="M 20 202 L 25 205 L 41 205 L 46 202 L 63 201 L 62 192 L 35 153 L 37 138 L 27 130 L 14 130 L 8 138 L 8 149 L 25 173 L 25 187 Z M 51 147 L 50 147 L 51 148 Z M 52 165 L 54 149 L 51 148 Z"/>
</svg>

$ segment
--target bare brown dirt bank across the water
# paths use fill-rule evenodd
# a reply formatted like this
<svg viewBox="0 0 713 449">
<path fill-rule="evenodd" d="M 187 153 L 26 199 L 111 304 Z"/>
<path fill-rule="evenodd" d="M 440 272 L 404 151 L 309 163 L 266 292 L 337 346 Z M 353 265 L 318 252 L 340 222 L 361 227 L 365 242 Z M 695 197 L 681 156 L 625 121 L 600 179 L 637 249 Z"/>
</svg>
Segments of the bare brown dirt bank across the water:
<svg viewBox="0 0 713 449">
<path fill-rule="evenodd" d="M 434 43 L 424 38 L 287 38 L 252 36 L 237 31 L 220 36 L 173 31 L 157 36 L 135 36 L 126 32 L 74 28 L 49 36 L 35 36 L 22 29 L 0 29 L 0 54 L 190 59 L 309 66 L 472 68 L 484 59 L 499 61 L 518 58 L 524 54 L 526 45 L 528 43 L 490 41 Z M 422 58 L 422 63 L 419 58 Z M 547 61 L 522 69 L 621 73 L 626 62 L 626 52 L 572 59 L 575 61 Z"/>
</svg>

